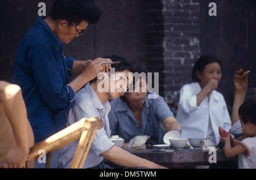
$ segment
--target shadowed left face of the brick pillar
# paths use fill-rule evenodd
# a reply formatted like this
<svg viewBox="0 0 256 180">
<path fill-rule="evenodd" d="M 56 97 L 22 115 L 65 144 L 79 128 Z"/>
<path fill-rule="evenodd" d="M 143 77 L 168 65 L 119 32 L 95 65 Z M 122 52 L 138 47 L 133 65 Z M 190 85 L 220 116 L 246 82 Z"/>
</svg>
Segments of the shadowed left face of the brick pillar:
<svg viewBox="0 0 256 180">
<path fill-rule="evenodd" d="M 150 72 L 159 73 L 159 93 L 164 94 L 164 16 L 162 14 L 163 3 L 161 0 L 145 1 L 145 59 Z"/>
</svg>

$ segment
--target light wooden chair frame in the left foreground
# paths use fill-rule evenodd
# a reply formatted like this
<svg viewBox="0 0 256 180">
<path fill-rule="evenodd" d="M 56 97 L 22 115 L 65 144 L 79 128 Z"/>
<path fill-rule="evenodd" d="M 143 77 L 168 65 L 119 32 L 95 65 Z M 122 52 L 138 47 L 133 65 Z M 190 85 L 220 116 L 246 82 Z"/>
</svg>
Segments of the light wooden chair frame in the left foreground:
<svg viewBox="0 0 256 180">
<path fill-rule="evenodd" d="M 41 149 L 47 154 L 46 168 L 50 168 L 52 152 L 79 138 L 79 145 L 77 146 L 70 168 L 82 168 L 95 132 L 101 127 L 103 127 L 103 123 L 100 118 L 80 119 L 80 121 L 31 147 L 26 161 L 26 168 L 34 168 L 34 162 L 38 160 L 39 156 L 41 157 L 41 154 L 38 153 Z"/>
</svg>

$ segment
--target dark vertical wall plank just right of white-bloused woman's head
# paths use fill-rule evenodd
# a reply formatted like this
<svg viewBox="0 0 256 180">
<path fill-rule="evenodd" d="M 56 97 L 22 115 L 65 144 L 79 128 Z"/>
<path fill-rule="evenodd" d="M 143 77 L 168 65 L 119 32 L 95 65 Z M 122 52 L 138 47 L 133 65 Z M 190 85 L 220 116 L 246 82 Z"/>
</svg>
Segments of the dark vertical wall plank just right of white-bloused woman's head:
<svg viewBox="0 0 256 180">
<path fill-rule="evenodd" d="M 236 65 L 236 1 L 218 1 L 221 3 L 221 44 L 220 60 L 222 61 L 222 80 L 219 85 L 229 110 L 233 104 L 233 75 Z"/>
</svg>

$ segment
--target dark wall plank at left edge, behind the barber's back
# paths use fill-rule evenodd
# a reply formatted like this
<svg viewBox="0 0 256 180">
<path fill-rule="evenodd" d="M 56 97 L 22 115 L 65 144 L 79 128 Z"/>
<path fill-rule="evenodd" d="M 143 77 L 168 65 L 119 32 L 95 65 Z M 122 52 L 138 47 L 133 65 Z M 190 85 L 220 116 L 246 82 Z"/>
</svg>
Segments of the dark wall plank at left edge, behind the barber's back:
<svg viewBox="0 0 256 180">
<path fill-rule="evenodd" d="M 14 72 L 16 52 L 24 33 L 24 4 L 20 1 L 1 1 L 1 45 L 0 45 L 0 79 L 11 82 Z"/>
</svg>

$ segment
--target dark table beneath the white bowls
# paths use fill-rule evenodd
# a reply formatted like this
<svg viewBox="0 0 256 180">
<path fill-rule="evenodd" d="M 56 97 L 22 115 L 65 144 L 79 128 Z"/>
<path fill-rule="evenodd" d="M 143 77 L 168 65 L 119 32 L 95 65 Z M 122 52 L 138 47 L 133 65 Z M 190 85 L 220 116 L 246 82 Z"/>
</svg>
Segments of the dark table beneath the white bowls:
<svg viewBox="0 0 256 180">
<path fill-rule="evenodd" d="M 208 165 L 210 168 L 236 168 L 237 166 L 237 156 L 226 158 L 224 149 L 215 150 L 215 155 L 214 152 L 201 149 L 183 149 L 174 152 L 168 152 L 168 149 L 167 151 L 145 149 L 129 152 L 167 168 L 195 168 L 200 165 Z M 211 162 L 215 157 L 216 163 Z"/>
</svg>

